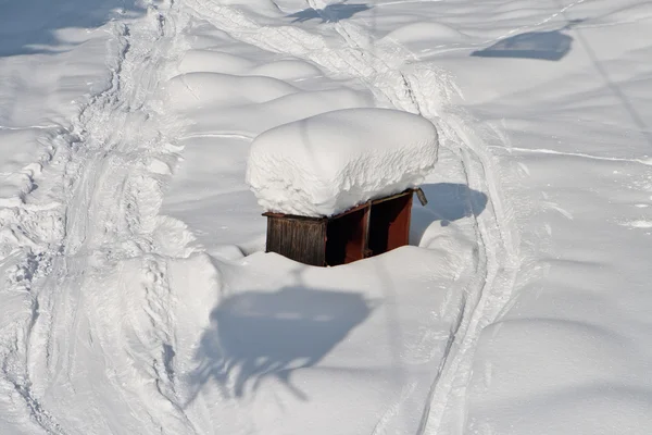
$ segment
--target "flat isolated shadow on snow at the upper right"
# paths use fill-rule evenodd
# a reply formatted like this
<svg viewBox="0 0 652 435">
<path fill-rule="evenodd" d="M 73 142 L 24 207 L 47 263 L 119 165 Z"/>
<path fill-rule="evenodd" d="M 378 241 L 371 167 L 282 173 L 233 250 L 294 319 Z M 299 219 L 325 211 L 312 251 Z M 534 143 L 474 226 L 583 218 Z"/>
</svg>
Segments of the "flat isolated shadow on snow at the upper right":
<svg viewBox="0 0 652 435">
<path fill-rule="evenodd" d="M 517 58 L 559 61 L 570 51 L 573 38 L 564 30 L 584 20 L 573 20 L 564 27 L 549 32 L 527 32 L 501 39 L 491 47 L 471 53 L 480 58 Z"/>
</svg>

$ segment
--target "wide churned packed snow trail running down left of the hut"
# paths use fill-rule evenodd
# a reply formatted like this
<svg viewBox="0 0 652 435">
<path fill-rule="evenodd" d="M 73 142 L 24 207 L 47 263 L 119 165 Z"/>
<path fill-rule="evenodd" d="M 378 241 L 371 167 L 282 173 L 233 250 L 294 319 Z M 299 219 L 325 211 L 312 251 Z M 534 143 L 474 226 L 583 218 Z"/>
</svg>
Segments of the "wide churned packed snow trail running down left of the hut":
<svg viewBox="0 0 652 435">
<path fill-rule="evenodd" d="M 32 315 L 0 355 L 2 381 L 48 434 L 113 433 L 117 414 L 131 415 L 123 422 L 130 433 L 195 432 L 174 387 L 166 282 L 166 259 L 187 258 L 190 236 L 158 216 L 180 128 L 153 98 L 177 52 L 175 14 L 172 2 L 151 2 L 143 18 L 111 26 L 110 88 L 53 139 L 45 184 L 59 203 L 51 219 L 60 238 L 28 254 L 21 273 Z M 137 283 L 142 295 L 128 287 Z"/>
</svg>

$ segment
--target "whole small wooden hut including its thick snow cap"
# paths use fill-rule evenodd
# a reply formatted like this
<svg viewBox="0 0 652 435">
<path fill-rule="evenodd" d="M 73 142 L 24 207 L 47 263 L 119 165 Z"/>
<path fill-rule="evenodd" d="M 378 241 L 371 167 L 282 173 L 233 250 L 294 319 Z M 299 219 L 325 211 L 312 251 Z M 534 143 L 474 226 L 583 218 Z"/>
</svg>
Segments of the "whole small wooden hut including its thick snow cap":
<svg viewBox="0 0 652 435">
<path fill-rule="evenodd" d="M 422 116 L 347 109 L 255 138 L 247 183 L 267 216 L 267 252 L 337 265 L 408 244 L 412 197 L 437 162 Z"/>
</svg>

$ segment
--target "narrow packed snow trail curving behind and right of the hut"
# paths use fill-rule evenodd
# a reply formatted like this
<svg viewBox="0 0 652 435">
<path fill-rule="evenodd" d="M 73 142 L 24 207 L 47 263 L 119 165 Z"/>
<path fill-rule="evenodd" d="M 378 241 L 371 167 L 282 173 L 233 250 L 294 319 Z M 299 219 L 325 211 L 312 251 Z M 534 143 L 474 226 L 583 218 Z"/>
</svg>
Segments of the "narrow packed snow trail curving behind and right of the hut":
<svg viewBox="0 0 652 435">
<path fill-rule="evenodd" d="M 484 326 L 498 318 L 505 307 L 519 264 L 512 211 L 504 206 L 493 158 L 482 133 L 475 133 L 472 121 L 451 108 L 450 97 L 457 92 L 446 72 L 435 65 L 410 65 L 409 50 L 398 44 L 368 42 L 371 34 L 358 25 L 336 22 L 333 28 L 342 45 L 333 47 L 323 36 L 296 26 L 258 24 L 234 7 L 211 1 L 190 0 L 196 13 L 233 38 L 264 50 L 308 59 L 330 74 L 358 77 L 390 107 L 418 113 L 437 125 L 441 146 L 459 156 L 467 185 L 487 192 L 487 210 L 476 216 L 479 251 L 475 276 L 450 336 L 449 350 L 426 403 L 421 433 L 460 433 L 464 424 L 464 388 L 471 376 L 474 345 Z M 326 3 L 310 2 L 321 11 Z M 485 134 L 485 136 L 489 136 Z M 497 134 L 500 137 L 500 134 Z"/>
</svg>

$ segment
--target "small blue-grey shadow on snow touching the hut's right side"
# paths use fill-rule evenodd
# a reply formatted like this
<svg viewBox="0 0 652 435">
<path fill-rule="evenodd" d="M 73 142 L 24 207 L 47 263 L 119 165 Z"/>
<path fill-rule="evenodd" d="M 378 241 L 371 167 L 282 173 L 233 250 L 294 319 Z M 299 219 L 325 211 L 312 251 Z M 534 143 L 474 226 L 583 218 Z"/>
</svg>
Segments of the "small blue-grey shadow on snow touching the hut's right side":
<svg viewBox="0 0 652 435">
<path fill-rule="evenodd" d="M 428 203 L 412 210 L 410 235 L 415 241 L 422 239 L 432 222 L 440 221 L 442 226 L 447 226 L 463 217 L 477 216 L 487 207 L 487 195 L 464 184 L 426 184 L 422 189 Z"/>
</svg>

